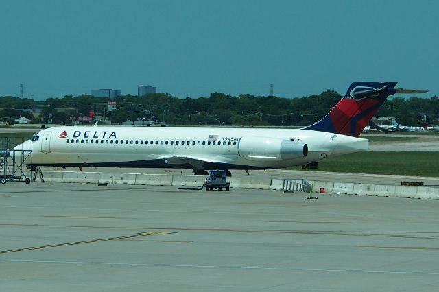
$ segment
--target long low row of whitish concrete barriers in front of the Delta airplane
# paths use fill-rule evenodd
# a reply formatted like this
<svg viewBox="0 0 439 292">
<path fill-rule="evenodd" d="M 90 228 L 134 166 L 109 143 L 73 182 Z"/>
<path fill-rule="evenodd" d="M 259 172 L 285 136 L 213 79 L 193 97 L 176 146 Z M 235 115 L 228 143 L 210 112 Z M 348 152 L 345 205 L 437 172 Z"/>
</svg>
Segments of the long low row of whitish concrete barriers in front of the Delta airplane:
<svg viewBox="0 0 439 292">
<path fill-rule="evenodd" d="M 32 175 L 34 173 L 32 172 Z M 26 173 L 32 178 L 31 173 Z M 154 175 L 141 173 L 92 173 L 77 171 L 44 171 L 46 182 L 78 182 L 105 184 L 145 184 L 150 186 L 193 186 L 200 187 L 204 176 L 192 175 Z M 40 176 L 37 174 L 36 182 Z M 259 188 L 265 190 L 302 191 L 309 188 L 305 180 L 281 180 L 270 178 L 227 178 L 231 188 Z M 355 195 L 377 195 L 380 197 L 407 197 L 419 199 L 439 199 L 439 188 L 425 186 L 392 186 L 381 184 L 354 184 L 347 182 L 313 181 L 313 192 L 324 188 L 327 193 Z M 309 191 L 309 189 L 308 189 Z"/>
</svg>

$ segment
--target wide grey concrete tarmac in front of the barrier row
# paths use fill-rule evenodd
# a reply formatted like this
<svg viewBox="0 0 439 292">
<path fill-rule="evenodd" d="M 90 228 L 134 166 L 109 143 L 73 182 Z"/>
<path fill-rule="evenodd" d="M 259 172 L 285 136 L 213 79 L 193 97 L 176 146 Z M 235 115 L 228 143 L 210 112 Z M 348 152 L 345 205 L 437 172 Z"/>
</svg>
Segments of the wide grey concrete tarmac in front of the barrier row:
<svg viewBox="0 0 439 292">
<path fill-rule="evenodd" d="M 436 200 L 8 182 L 0 291 L 438 291 Z"/>
</svg>

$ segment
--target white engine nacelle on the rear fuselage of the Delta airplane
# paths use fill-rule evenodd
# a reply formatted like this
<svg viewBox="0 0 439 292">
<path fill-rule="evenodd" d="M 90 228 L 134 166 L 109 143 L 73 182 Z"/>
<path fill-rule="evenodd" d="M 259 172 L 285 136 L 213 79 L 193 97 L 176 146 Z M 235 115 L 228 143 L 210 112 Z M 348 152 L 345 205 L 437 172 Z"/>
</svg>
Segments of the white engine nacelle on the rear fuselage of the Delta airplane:
<svg viewBox="0 0 439 292">
<path fill-rule="evenodd" d="M 281 161 L 308 155 L 308 146 L 296 141 L 246 136 L 239 139 L 239 156 L 253 161 Z"/>
</svg>

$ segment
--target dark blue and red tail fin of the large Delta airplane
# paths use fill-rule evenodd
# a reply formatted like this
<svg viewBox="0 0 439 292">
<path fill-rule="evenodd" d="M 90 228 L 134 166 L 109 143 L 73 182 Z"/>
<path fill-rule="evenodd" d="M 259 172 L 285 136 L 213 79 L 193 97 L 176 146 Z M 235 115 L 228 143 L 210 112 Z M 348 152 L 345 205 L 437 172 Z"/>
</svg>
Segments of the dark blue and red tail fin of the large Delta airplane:
<svg viewBox="0 0 439 292">
<path fill-rule="evenodd" d="M 358 137 L 385 99 L 396 93 L 395 86 L 396 82 L 354 82 L 323 119 L 305 129 Z"/>
</svg>

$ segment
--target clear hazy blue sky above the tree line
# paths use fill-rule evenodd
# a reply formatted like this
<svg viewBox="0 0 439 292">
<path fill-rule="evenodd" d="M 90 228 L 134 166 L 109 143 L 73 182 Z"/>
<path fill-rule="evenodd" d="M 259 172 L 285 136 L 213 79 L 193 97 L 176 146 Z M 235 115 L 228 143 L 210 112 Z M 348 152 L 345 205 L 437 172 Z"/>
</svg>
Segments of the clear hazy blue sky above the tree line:
<svg viewBox="0 0 439 292">
<path fill-rule="evenodd" d="M 298 97 L 354 81 L 439 95 L 439 1 L 0 1 L 0 96 L 156 86 Z"/>
</svg>

